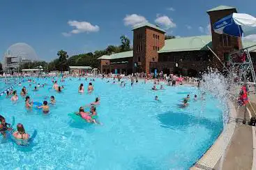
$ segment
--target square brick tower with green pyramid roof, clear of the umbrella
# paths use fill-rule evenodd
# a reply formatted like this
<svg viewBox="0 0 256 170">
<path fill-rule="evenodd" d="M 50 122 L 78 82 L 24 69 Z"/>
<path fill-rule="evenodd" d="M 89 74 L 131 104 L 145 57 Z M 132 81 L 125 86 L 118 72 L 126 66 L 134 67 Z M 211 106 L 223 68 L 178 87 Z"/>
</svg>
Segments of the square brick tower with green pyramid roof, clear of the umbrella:
<svg viewBox="0 0 256 170">
<path fill-rule="evenodd" d="M 158 50 L 165 45 L 165 31 L 150 23 L 133 29 L 133 72 L 150 73 L 150 62 L 158 61 Z"/>
</svg>

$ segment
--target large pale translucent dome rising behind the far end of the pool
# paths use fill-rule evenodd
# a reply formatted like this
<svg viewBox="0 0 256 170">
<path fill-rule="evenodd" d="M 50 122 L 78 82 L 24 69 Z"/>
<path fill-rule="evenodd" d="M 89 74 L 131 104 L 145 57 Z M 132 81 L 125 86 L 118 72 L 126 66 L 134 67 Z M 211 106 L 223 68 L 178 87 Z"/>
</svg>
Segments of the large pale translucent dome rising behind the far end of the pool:
<svg viewBox="0 0 256 170">
<path fill-rule="evenodd" d="M 7 52 L 11 56 L 22 56 L 23 59 L 29 59 L 31 61 L 38 60 L 38 55 L 35 50 L 28 44 L 19 42 L 11 45 Z"/>
</svg>

